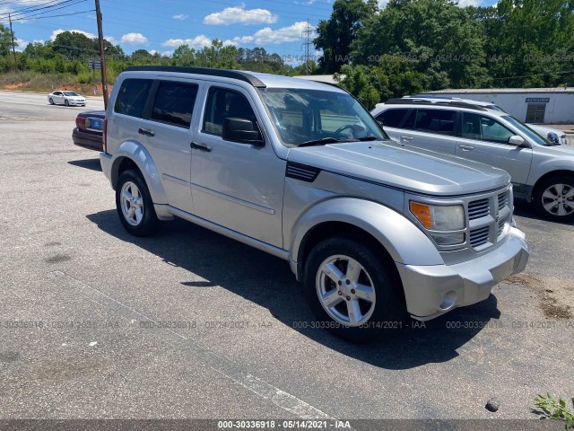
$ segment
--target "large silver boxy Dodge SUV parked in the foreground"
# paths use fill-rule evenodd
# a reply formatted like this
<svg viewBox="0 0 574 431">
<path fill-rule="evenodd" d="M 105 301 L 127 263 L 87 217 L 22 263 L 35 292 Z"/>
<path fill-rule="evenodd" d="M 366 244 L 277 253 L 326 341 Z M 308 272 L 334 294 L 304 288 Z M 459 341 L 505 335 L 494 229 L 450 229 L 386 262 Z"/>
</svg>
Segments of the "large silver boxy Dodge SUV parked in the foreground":
<svg viewBox="0 0 574 431">
<path fill-rule="evenodd" d="M 128 232 L 177 216 L 288 260 L 312 326 L 345 339 L 482 301 L 526 266 L 506 172 L 396 145 L 336 86 L 131 67 L 106 118 Z"/>
</svg>

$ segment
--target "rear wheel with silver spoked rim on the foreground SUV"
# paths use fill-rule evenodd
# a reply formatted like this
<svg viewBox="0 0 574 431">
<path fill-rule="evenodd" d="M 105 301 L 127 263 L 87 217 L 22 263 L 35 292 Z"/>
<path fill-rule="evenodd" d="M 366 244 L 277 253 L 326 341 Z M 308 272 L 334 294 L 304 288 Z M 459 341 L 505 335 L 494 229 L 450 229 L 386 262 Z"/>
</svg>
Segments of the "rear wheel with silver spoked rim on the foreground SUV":
<svg viewBox="0 0 574 431">
<path fill-rule="evenodd" d="M 116 186 L 117 216 L 126 231 L 135 236 L 149 236 L 160 228 L 152 196 L 139 172 L 122 172 Z"/>
</svg>

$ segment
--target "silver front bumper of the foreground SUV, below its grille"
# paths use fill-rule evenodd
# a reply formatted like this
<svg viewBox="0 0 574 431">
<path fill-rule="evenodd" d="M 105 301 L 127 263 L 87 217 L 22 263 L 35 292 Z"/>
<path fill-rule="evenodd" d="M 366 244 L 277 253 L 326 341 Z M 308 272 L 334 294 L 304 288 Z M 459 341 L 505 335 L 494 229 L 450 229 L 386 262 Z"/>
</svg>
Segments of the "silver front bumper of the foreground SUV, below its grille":
<svg viewBox="0 0 574 431">
<path fill-rule="evenodd" d="M 522 231 L 510 228 L 497 249 L 456 265 L 413 266 L 397 263 L 407 311 L 428 321 L 454 308 L 488 298 L 492 286 L 522 272 L 530 255 Z"/>
</svg>

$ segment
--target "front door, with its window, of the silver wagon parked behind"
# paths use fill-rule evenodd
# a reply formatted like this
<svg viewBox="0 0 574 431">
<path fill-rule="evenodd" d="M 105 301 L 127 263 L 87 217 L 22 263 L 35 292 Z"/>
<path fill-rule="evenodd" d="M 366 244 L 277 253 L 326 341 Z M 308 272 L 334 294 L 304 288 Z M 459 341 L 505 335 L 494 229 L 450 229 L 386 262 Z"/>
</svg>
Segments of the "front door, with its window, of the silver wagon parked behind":
<svg viewBox="0 0 574 431">
<path fill-rule="evenodd" d="M 488 115 L 474 112 L 461 115 L 457 155 L 502 169 L 509 172 L 512 182 L 526 184 L 532 149 L 509 144 L 509 137 L 518 134 Z"/>
</svg>

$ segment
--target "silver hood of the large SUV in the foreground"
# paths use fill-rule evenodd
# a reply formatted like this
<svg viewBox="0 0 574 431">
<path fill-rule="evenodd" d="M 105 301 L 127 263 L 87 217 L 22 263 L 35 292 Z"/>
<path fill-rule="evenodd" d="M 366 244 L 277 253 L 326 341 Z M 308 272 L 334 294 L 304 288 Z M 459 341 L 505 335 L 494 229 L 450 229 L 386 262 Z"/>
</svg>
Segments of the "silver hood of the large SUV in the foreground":
<svg viewBox="0 0 574 431">
<path fill-rule="evenodd" d="M 507 172 L 448 154 L 385 142 L 291 148 L 290 162 L 436 196 L 466 195 L 509 184 Z"/>
</svg>

